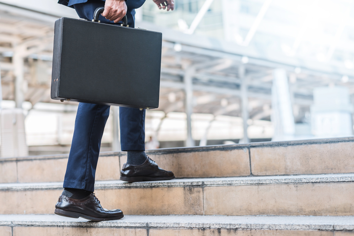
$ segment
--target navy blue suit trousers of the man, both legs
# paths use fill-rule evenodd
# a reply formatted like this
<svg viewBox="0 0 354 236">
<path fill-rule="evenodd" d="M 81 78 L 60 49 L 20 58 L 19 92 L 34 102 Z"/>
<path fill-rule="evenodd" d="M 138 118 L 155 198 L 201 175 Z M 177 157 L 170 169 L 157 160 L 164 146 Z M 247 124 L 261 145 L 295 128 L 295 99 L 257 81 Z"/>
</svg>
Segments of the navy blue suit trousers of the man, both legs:
<svg viewBox="0 0 354 236">
<path fill-rule="evenodd" d="M 90 20 L 93 12 L 100 6 L 104 6 L 103 1 L 88 1 L 75 4 L 74 8 L 80 18 Z M 127 19 L 131 27 L 134 27 L 134 14 L 134 9 L 128 9 Z M 103 23 L 114 23 L 102 16 L 99 19 Z M 64 188 L 85 189 L 93 192 L 99 149 L 104 126 L 109 116 L 109 107 L 107 105 L 79 103 L 64 178 Z M 138 108 L 120 107 L 119 120 L 122 151 L 145 150 L 145 109 L 140 111 Z M 116 168 L 119 171 L 120 167 L 116 166 Z"/>
</svg>

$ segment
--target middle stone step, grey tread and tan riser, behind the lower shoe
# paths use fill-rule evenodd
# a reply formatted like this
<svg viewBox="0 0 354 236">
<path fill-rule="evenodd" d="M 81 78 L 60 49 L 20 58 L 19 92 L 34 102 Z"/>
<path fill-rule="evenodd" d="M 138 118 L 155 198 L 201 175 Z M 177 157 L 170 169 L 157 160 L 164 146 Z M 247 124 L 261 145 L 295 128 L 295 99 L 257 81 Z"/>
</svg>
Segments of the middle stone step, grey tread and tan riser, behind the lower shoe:
<svg viewBox="0 0 354 236">
<path fill-rule="evenodd" d="M 354 174 L 97 181 L 102 206 L 125 214 L 354 215 Z M 62 183 L 0 184 L 0 214 L 51 214 Z"/>
</svg>

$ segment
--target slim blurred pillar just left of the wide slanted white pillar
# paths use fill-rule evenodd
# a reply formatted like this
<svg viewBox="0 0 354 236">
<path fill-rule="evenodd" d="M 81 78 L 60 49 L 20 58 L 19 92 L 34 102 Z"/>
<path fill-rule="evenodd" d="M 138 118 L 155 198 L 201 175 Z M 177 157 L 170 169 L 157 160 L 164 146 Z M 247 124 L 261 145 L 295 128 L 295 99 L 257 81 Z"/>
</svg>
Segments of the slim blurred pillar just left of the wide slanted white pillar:
<svg viewBox="0 0 354 236">
<path fill-rule="evenodd" d="M 247 129 L 248 129 L 248 84 L 247 77 L 245 76 L 245 65 L 241 64 L 239 66 L 239 78 L 241 80 L 241 100 L 242 100 L 242 121 L 243 121 L 243 130 L 244 137 L 240 143 L 249 143 L 250 140 L 248 138 Z"/>
</svg>

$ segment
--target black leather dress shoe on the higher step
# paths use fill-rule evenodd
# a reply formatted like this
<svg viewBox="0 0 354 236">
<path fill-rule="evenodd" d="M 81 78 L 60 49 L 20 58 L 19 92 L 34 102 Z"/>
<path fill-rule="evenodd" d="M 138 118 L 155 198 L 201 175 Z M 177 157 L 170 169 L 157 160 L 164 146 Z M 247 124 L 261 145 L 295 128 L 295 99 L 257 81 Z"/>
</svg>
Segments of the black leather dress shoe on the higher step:
<svg viewBox="0 0 354 236">
<path fill-rule="evenodd" d="M 162 170 L 155 161 L 147 157 L 141 165 L 124 164 L 120 171 L 120 180 L 126 182 L 155 181 L 173 179 L 172 171 Z"/>
</svg>

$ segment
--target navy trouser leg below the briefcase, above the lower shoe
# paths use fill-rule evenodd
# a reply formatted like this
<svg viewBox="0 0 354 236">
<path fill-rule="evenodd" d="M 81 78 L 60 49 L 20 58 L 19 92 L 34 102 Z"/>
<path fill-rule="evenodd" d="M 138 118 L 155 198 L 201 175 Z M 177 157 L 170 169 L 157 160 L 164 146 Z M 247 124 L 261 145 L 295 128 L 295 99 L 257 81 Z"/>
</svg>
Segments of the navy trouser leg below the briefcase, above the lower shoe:
<svg viewBox="0 0 354 236">
<path fill-rule="evenodd" d="M 108 116 L 109 106 L 80 102 L 64 188 L 93 192 L 99 149 Z"/>
</svg>

